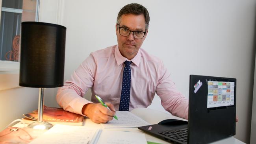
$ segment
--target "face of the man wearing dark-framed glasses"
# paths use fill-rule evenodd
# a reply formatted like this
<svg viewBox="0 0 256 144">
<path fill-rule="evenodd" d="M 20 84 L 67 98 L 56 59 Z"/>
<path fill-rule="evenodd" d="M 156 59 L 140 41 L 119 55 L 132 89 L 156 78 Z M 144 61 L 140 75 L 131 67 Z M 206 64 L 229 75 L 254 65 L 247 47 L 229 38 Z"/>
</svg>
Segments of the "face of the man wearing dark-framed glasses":
<svg viewBox="0 0 256 144">
<path fill-rule="evenodd" d="M 144 15 L 122 15 L 119 26 L 122 28 L 127 28 L 131 31 L 145 31 Z M 131 60 L 137 54 L 139 48 L 141 48 L 147 33 L 143 39 L 135 39 L 132 32 L 130 35 L 124 37 L 119 33 L 119 26 L 116 25 L 115 27 L 119 51 L 121 52 L 122 56 Z"/>
</svg>

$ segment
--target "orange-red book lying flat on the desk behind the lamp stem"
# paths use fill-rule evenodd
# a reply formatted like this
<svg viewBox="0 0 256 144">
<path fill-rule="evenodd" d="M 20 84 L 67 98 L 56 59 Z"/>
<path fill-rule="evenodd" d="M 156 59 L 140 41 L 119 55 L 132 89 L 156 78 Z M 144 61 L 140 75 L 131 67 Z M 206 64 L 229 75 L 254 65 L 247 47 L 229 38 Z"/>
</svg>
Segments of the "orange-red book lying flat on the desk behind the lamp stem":
<svg viewBox="0 0 256 144">
<path fill-rule="evenodd" d="M 28 114 L 23 114 L 25 118 L 22 120 L 26 123 L 30 120 L 37 120 L 38 110 L 32 111 Z M 43 121 L 50 122 L 51 124 L 65 124 L 73 126 L 82 126 L 84 116 L 76 113 L 65 111 L 63 108 L 47 107 L 44 106 Z M 31 122 L 30 122 L 31 123 Z"/>
</svg>

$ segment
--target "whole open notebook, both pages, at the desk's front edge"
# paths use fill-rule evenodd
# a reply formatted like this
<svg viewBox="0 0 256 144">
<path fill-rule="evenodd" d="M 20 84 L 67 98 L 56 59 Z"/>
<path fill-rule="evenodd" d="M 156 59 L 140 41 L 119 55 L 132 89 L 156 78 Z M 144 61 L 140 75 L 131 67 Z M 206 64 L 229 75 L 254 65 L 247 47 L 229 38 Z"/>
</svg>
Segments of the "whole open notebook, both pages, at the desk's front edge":
<svg viewBox="0 0 256 144">
<path fill-rule="evenodd" d="M 144 133 L 55 125 L 30 144 L 147 144 Z"/>
</svg>

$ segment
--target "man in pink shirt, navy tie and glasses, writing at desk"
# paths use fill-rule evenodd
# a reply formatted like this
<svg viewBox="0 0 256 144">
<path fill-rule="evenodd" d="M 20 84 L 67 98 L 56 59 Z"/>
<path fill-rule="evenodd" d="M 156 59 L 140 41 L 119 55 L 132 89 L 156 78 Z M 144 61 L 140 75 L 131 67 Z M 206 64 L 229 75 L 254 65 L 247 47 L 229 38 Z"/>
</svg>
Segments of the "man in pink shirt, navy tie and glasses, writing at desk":
<svg viewBox="0 0 256 144">
<path fill-rule="evenodd" d="M 175 88 L 163 62 L 141 49 L 147 37 L 149 14 L 139 4 L 119 11 L 115 25 L 117 45 L 93 52 L 59 88 L 56 99 L 65 110 L 106 123 L 115 111 L 148 107 L 155 93 L 165 110 L 188 117 L 188 100 Z M 82 96 L 91 88 L 92 102 Z M 97 102 L 100 96 L 111 110 Z"/>
</svg>

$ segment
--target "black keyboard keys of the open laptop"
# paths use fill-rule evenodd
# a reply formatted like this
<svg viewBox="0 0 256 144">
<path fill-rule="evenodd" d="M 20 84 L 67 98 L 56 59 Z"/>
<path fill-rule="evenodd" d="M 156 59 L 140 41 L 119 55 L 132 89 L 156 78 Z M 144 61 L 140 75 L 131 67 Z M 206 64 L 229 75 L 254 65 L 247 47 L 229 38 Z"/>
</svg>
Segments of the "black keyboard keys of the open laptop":
<svg viewBox="0 0 256 144">
<path fill-rule="evenodd" d="M 174 138 L 181 142 L 187 142 L 187 128 L 179 129 L 179 130 L 171 130 L 171 131 L 161 131 L 159 132 L 161 135 L 165 135 L 170 138 Z"/>
</svg>

